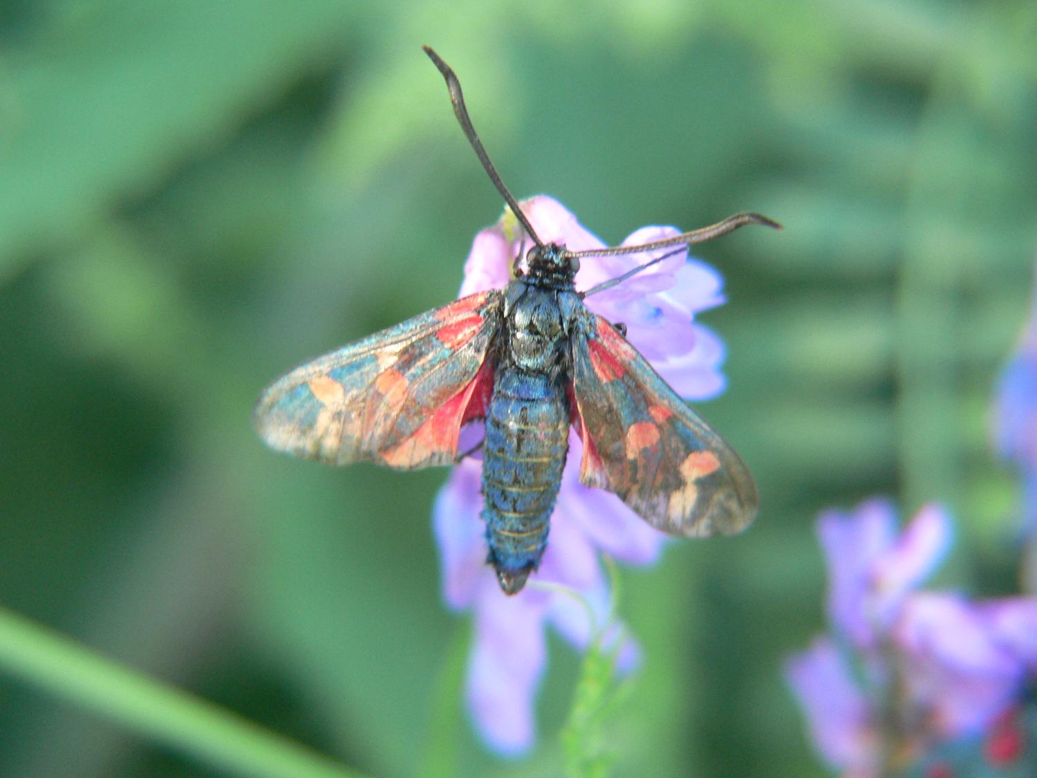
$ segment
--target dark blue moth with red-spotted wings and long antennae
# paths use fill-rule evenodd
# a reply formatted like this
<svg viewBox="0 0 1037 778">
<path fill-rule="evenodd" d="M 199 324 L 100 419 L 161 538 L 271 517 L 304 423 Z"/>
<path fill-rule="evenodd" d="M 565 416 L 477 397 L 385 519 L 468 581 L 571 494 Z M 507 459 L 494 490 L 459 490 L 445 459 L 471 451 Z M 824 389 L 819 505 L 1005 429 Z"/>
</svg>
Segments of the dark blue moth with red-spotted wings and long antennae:
<svg viewBox="0 0 1037 778">
<path fill-rule="evenodd" d="M 255 425 L 269 446 L 332 465 L 399 470 L 451 465 L 460 428 L 483 420 L 487 562 L 507 594 L 520 591 L 548 544 L 569 427 L 583 441 L 580 480 L 619 496 L 671 534 L 745 529 L 758 498 L 734 450 L 677 396 L 625 339 L 621 324 L 584 300 L 666 258 L 578 291 L 581 259 L 684 247 L 759 214 L 640 246 L 569 251 L 543 243 L 504 186 L 465 106 L 454 72 L 428 47 L 465 135 L 533 246 L 503 289 L 481 291 L 318 357 L 259 397 Z"/>
</svg>

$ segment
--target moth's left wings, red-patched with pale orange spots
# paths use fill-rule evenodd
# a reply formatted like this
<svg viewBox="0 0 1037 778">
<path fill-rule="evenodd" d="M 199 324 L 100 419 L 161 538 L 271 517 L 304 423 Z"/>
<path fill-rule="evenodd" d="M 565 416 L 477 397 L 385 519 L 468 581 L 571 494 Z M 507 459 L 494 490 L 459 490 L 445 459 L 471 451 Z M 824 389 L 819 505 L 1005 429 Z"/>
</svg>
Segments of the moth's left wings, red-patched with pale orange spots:
<svg viewBox="0 0 1037 778">
<path fill-rule="evenodd" d="M 259 397 L 272 448 L 333 465 L 449 465 L 461 424 L 485 413 L 503 297 L 482 291 L 317 357 Z"/>
</svg>

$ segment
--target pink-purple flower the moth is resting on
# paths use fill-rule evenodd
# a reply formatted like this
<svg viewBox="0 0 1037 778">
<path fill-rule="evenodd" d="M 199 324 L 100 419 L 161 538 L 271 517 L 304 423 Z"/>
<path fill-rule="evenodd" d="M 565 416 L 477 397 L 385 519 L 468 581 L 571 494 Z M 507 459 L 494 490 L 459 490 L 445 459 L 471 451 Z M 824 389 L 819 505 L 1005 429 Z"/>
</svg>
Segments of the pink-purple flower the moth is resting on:
<svg viewBox="0 0 1037 778">
<path fill-rule="evenodd" d="M 551 197 L 524 201 L 523 211 L 544 242 L 573 250 L 605 246 L 576 217 Z M 674 227 L 644 227 L 624 245 L 677 234 Z M 465 263 L 460 294 L 501 288 L 511 280 L 514 257 L 529 248 L 516 220 L 501 221 L 476 235 Z M 672 249 L 671 249 L 672 250 Z M 663 252 L 585 259 L 577 288 L 622 275 Z M 682 396 L 703 399 L 724 388 L 720 364 L 724 346 L 695 313 L 724 302 L 722 279 L 686 250 L 587 299 L 588 307 L 611 322 L 623 322 L 627 339 Z M 467 430 L 468 432 L 468 430 Z M 478 438 L 476 438 L 478 440 Z M 463 444 L 464 445 L 464 444 Z M 486 565 L 485 527 L 480 511 L 480 464 L 471 459 L 454 468 L 435 507 L 436 536 L 443 561 L 443 589 L 455 610 L 475 616 L 475 645 L 468 670 L 468 701 L 487 744 L 502 754 L 527 750 L 536 737 L 534 698 L 546 664 L 545 628 L 551 624 L 578 649 L 592 639 L 618 648 L 618 666 L 628 670 L 638 659 L 637 644 L 622 624 L 609 619 L 609 582 L 598 559 L 605 552 L 630 564 L 650 564 L 665 535 L 650 527 L 618 497 L 580 483 L 582 444 L 569 436 L 569 456 L 562 476 L 551 538 L 531 582 L 561 584 L 572 594 L 527 586 L 505 596 Z M 592 622 L 593 621 L 593 622 Z M 606 634 L 599 634 L 601 630 Z"/>
</svg>

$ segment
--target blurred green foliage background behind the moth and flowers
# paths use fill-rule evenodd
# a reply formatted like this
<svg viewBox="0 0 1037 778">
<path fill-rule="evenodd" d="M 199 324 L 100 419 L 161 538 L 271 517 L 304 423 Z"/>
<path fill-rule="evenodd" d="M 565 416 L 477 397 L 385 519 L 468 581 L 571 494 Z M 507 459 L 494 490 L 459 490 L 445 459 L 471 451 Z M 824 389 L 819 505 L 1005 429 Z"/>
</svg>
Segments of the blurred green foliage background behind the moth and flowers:
<svg viewBox="0 0 1037 778">
<path fill-rule="evenodd" d="M 6 2 L 0 9 L 0 600 L 380 776 L 557 773 L 479 746 L 429 515 L 445 471 L 323 468 L 250 424 L 302 359 L 440 305 L 497 166 L 616 242 L 753 210 L 698 252 L 757 475 L 747 534 L 623 573 L 645 647 L 625 775 L 820 775 L 782 662 L 822 624 L 818 509 L 941 499 L 947 582 L 1016 586 L 989 450 L 1028 314 L 1037 5 L 640 0 Z M 0 774 L 205 775 L 0 675 Z"/>
</svg>

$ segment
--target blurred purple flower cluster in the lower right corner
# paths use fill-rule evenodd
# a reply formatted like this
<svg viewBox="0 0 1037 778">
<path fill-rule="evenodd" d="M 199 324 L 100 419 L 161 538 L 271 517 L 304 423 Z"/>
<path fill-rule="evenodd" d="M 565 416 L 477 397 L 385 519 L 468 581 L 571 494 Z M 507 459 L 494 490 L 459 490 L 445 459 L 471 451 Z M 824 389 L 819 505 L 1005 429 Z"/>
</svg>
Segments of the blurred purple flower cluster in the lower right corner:
<svg viewBox="0 0 1037 778">
<path fill-rule="evenodd" d="M 872 500 L 822 515 L 818 533 L 833 634 L 787 676 L 833 767 L 884 775 L 1006 715 L 1037 672 L 1037 599 L 918 590 L 951 540 L 935 505 L 898 533 L 894 507 Z"/>
</svg>

